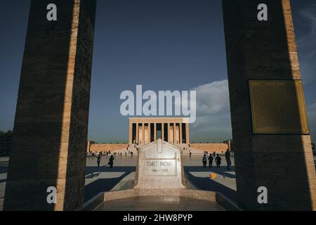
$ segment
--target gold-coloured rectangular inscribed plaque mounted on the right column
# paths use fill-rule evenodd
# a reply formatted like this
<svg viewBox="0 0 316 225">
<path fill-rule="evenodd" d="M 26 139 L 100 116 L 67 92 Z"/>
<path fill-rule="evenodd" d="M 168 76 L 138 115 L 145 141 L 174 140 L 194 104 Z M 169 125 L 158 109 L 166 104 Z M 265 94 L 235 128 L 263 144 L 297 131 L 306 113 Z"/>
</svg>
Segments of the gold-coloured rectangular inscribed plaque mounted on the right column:
<svg viewBox="0 0 316 225">
<path fill-rule="evenodd" d="M 309 134 L 301 80 L 249 81 L 254 134 Z"/>
</svg>

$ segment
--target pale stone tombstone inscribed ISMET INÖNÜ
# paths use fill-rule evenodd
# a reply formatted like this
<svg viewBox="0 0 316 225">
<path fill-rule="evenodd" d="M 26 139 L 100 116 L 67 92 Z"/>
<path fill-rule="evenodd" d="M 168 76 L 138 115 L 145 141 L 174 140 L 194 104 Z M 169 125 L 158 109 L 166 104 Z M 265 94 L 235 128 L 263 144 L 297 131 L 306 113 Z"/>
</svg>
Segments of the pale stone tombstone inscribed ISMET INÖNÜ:
<svg viewBox="0 0 316 225">
<path fill-rule="evenodd" d="M 185 188 L 178 146 L 158 139 L 140 147 L 134 188 Z"/>
</svg>

